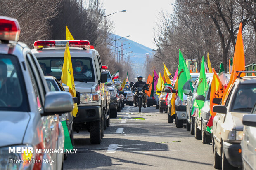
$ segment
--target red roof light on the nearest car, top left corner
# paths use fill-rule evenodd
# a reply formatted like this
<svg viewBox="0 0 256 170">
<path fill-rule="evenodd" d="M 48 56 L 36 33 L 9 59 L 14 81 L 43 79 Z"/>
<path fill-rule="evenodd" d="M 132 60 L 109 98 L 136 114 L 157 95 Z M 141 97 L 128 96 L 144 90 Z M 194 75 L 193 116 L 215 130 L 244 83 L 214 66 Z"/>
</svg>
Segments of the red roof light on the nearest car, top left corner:
<svg viewBox="0 0 256 170">
<path fill-rule="evenodd" d="M 18 41 L 21 28 L 17 19 L 0 16 L 0 40 Z"/>
</svg>

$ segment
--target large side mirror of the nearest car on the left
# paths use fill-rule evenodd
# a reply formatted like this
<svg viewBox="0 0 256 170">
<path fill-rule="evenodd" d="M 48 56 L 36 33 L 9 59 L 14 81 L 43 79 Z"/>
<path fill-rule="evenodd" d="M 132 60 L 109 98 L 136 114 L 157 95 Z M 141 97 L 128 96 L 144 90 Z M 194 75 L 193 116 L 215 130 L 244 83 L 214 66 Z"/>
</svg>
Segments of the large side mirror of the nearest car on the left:
<svg viewBox="0 0 256 170">
<path fill-rule="evenodd" d="M 44 113 L 42 116 L 62 114 L 73 110 L 73 98 L 69 92 L 52 91 L 45 95 Z"/>
</svg>

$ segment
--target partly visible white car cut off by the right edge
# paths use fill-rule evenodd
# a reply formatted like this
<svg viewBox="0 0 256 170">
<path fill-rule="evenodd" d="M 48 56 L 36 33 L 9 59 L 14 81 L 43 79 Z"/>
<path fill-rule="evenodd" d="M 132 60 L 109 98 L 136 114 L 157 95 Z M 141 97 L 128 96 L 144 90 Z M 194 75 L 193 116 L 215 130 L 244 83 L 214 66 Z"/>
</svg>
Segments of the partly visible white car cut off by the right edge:
<svg viewBox="0 0 256 170">
<path fill-rule="evenodd" d="M 244 170 L 256 169 L 256 105 L 251 114 L 243 117 L 244 133 L 241 140 L 242 164 Z"/>
</svg>

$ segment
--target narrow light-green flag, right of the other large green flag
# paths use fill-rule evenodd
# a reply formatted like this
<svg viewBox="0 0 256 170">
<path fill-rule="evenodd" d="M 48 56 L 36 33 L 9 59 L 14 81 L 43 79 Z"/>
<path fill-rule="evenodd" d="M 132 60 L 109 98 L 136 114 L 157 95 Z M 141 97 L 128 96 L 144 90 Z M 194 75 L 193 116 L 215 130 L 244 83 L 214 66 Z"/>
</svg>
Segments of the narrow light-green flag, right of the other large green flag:
<svg viewBox="0 0 256 170">
<path fill-rule="evenodd" d="M 199 82 L 197 86 L 197 95 L 203 95 L 205 97 L 205 93 L 207 90 L 207 82 L 206 82 L 206 75 L 205 75 L 205 69 L 204 69 L 204 56 L 201 63 L 201 69 L 200 69 L 200 76 L 199 76 Z M 201 108 L 204 106 L 204 101 L 196 100 L 198 108 L 201 110 Z"/>
</svg>

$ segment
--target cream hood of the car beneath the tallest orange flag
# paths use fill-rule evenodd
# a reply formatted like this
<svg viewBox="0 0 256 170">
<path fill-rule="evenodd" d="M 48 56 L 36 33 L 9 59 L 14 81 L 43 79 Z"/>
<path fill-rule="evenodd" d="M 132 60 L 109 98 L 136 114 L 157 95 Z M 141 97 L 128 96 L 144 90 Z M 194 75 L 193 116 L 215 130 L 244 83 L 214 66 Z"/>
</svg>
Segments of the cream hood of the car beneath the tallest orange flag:
<svg viewBox="0 0 256 170">
<path fill-rule="evenodd" d="M 242 123 L 243 116 L 248 113 L 230 112 L 226 115 L 225 121 L 230 120 L 233 124 L 233 129 L 243 130 L 244 125 Z"/>
</svg>

